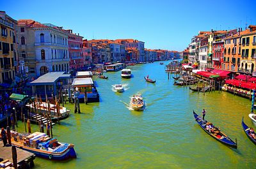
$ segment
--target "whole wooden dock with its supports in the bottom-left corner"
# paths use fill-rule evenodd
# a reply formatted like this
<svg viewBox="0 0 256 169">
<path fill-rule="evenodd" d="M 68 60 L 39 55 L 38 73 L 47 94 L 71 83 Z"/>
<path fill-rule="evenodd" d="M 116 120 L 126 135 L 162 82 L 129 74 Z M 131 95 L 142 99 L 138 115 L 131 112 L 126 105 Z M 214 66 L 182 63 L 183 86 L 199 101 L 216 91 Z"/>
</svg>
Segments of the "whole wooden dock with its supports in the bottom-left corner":
<svg viewBox="0 0 256 169">
<path fill-rule="evenodd" d="M 16 147 L 17 150 L 17 164 L 18 168 L 32 168 L 34 166 L 33 160 L 35 159 L 35 154 L 32 152 L 24 151 Z M 0 141 L 0 158 L 2 159 L 9 159 L 11 163 L 12 161 L 12 146 L 10 147 L 3 147 L 2 140 Z M 0 162 L 1 163 L 1 162 Z"/>
</svg>

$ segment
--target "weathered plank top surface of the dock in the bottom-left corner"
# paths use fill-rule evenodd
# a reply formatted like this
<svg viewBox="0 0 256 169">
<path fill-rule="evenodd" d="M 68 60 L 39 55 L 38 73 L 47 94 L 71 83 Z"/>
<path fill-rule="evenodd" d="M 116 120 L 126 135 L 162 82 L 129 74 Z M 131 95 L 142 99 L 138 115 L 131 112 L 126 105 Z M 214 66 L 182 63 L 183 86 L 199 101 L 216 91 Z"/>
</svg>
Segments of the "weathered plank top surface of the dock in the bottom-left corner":
<svg viewBox="0 0 256 169">
<path fill-rule="evenodd" d="M 35 159 L 35 154 L 32 152 L 24 151 L 16 147 L 17 150 L 17 163 L 20 165 L 24 163 L 24 161 L 33 161 Z M 0 158 L 9 159 L 10 162 L 12 161 L 12 146 L 10 147 L 3 147 L 3 142 L 0 142 Z"/>
</svg>

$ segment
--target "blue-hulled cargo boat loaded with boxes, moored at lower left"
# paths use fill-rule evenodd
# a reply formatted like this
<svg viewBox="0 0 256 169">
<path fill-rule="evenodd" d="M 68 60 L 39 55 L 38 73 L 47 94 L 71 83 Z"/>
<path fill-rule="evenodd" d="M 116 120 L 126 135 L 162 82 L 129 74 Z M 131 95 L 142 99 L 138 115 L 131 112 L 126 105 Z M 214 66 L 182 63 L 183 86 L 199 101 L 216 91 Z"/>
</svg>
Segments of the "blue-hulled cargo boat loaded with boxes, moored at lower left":
<svg viewBox="0 0 256 169">
<path fill-rule="evenodd" d="M 18 133 L 11 131 L 12 145 L 34 153 L 36 156 L 54 160 L 76 158 L 74 144 L 61 143 L 45 133 Z"/>
</svg>

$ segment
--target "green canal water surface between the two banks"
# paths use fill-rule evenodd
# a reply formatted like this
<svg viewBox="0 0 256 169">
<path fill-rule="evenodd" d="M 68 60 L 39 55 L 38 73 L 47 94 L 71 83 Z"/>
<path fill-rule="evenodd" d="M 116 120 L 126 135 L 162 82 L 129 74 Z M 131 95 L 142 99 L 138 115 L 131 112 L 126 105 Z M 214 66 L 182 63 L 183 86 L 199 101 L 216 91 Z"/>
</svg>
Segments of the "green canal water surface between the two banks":
<svg viewBox="0 0 256 169">
<path fill-rule="evenodd" d="M 122 79 L 120 71 L 106 73 L 108 80 L 95 78 L 100 103 L 81 103 L 81 114 L 74 114 L 74 105 L 66 105 L 72 113 L 54 126 L 53 134 L 61 142 L 76 145 L 77 159 L 36 158 L 35 168 L 255 168 L 256 147 L 241 127 L 243 116 L 253 126 L 248 99 L 218 91 L 204 96 L 175 86 L 159 62 L 131 70 L 131 79 Z M 156 78 L 156 84 L 145 82 L 147 75 Z M 113 92 L 112 85 L 120 83 L 126 91 Z M 143 112 L 127 108 L 130 97 L 138 92 L 145 99 Z M 237 150 L 198 126 L 192 112 L 202 112 L 202 108 L 207 111 L 205 119 L 237 138 Z M 18 130 L 24 131 L 21 122 Z"/>
</svg>

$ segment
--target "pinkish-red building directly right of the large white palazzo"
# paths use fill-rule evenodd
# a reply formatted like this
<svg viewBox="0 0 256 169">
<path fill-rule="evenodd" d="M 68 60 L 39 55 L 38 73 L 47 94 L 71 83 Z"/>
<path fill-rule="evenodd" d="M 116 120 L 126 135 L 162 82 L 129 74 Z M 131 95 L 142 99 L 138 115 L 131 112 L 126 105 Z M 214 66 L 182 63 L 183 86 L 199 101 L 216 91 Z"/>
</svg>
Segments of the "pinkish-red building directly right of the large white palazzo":
<svg viewBox="0 0 256 169">
<path fill-rule="evenodd" d="M 79 33 L 74 34 L 71 29 L 65 31 L 68 33 L 69 68 L 78 70 L 84 66 L 83 36 L 79 36 Z"/>
</svg>

